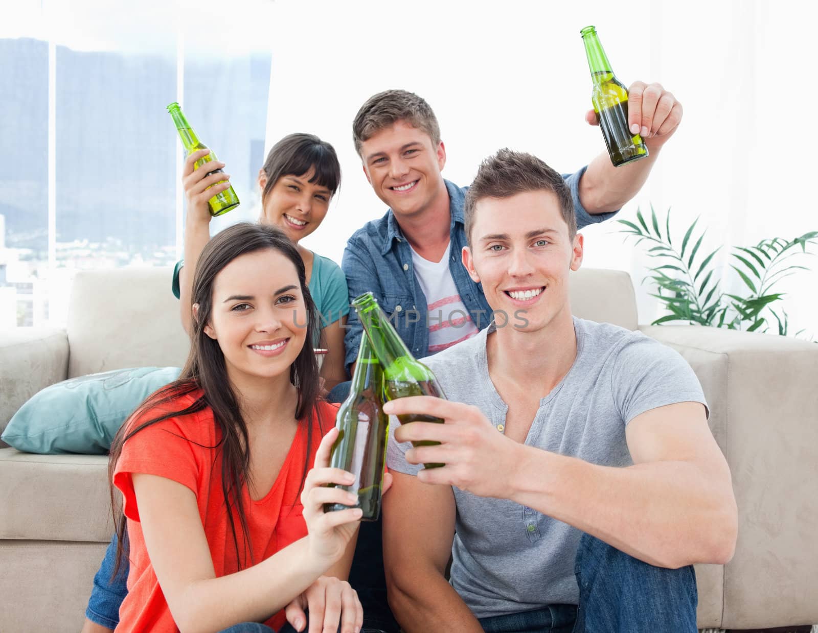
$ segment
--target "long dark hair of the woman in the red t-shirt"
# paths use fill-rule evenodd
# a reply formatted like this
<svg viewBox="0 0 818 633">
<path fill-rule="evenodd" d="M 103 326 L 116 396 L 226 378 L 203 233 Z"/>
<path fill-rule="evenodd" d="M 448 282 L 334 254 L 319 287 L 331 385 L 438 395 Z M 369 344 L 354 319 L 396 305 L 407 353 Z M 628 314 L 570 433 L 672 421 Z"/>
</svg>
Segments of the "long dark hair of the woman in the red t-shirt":
<svg viewBox="0 0 818 633">
<path fill-rule="evenodd" d="M 225 365 L 222 349 L 219 347 L 218 341 L 205 334 L 205 325 L 210 321 L 210 314 L 213 310 L 213 282 L 218 273 L 241 255 L 264 249 L 276 250 L 293 263 L 299 275 L 301 294 L 303 295 L 304 306 L 307 309 L 307 336 L 304 339 L 301 352 L 290 366 L 290 382 L 298 390 L 295 417 L 297 420 L 306 421 L 307 455 L 311 454 L 312 415 L 317 413 L 315 406 L 319 393 L 318 364 L 315 354 L 312 352 L 312 333 L 317 328 L 317 312 L 307 287 L 303 259 L 296 250 L 295 245 L 280 229 L 240 222 L 214 236 L 205 245 L 205 249 L 202 250 L 199 262 L 196 265 L 192 300 L 193 303 L 199 305 L 199 308 L 191 326 L 191 351 L 188 354 L 184 368 L 182 368 L 182 374 L 179 375 L 176 381 L 148 397 L 137 408 L 137 411 L 134 411 L 131 418 L 122 425 L 111 443 L 108 480 L 110 482 L 111 508 L 117 526 L 116 533 L 119 536 L 116 564 L 111 578 L 115 577 L 119 571 L 125 551 L 124 539 L 127 523 L 122 510 L 118 509 L 118 504 L 115 503 L 115 487 L 113 485 L 116 463 L 122 453 L 124 443 L 152 424 L 172 417 L 191 415 L 208 407 L 213 411 L 213 420 L 215 420 L 222 432 L 222 438 L 218 444 L 207 448 L 213 448 L 222 453 L 222 492 L 227 504 L 227 517 L 230 520 L 233 545 L 236 548 L 236 559 L 239 561 L 239 568 L 245 568 L 247 566 L 245 564 L 245 552 L 249 550 L 251 553 L 250 564 L 254 564 L 252 550 L 249 549 L 249 531 L 244 505 L 241 500 L 242 488 L 245 483 L 249 482 L 247 425 L 241 417 L 236 393 L 231 388 L 230 380 L 227 377 L 227 366 Z M 153 417 L 142 424 L 138 424 L 134 429 L 128 428 L 130 426 L 128 423 L 131 420 L 146 414 L 156 406 L 175 402 L 179 397 L 195 392 L 198 389 L 201 389 L 202 394 L 190 406 Z M 307 475 L 307 469 L 308 463 L 305 461 L 302 485 L 303 478 Z M 240 551 L 239 548 L 236 523 L 233 518 L 233 506 L 235 506 L 236 516 L 239 519 L 241 532 L 244 536 L 244 547 L 242 548 L 244 551 Z"/>
</svg>

